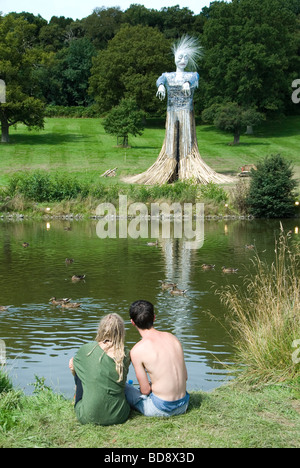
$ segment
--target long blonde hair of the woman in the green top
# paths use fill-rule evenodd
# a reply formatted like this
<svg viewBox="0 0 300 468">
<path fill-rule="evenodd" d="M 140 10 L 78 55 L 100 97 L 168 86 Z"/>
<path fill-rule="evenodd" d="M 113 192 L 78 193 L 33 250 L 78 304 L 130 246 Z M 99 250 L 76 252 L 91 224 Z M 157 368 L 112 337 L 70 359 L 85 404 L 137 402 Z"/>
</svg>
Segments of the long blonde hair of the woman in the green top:
<svg viewBox="0 0 300 468">
<path fill-rule="evenodd" d="M 96 335 L 98 343 L 106 344 L 106 351 L 113 352 L 116 371 L 119 374 L 118 382 L 123 379 L 123 361 L 125 357 L 125 325 L 118 314 L 109 314 L 102 318 Z"/>
</svg>

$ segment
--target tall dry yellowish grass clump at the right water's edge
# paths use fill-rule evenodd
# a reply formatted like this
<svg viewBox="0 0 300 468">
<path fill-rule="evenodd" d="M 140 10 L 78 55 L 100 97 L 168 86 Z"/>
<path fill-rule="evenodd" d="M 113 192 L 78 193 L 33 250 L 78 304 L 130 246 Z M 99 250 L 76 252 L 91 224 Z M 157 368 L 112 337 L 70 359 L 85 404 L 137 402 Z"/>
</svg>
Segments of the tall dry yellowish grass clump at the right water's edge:
<svg viewBox="0 0 300 468">
<path fill-rule="evenodd" d="M 219 291 L 228 308 L 240 378 L 251 385 L 299 378 L 293 342 L 300 339 L 300 248 L 283 228 L 271 267 L 256 255 L 244 288 Z"/>
</svg>

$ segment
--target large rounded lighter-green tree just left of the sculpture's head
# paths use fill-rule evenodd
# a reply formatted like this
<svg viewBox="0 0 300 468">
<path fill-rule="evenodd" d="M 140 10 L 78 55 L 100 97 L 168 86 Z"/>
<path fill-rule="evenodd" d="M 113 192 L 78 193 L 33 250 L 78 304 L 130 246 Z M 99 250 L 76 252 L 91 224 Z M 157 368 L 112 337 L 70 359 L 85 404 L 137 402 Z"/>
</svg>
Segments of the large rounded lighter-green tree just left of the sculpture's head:
<svg viewBox="0 0 300 468">
<path fill-rule="evenodd" d="M 170 42 L 148 26 L 123 26 L 93 61 L 90 92 L 101 111 L 132 97 L 146 112 L 157 112 L 156 80 L 174 67 Z"/>
</svg>

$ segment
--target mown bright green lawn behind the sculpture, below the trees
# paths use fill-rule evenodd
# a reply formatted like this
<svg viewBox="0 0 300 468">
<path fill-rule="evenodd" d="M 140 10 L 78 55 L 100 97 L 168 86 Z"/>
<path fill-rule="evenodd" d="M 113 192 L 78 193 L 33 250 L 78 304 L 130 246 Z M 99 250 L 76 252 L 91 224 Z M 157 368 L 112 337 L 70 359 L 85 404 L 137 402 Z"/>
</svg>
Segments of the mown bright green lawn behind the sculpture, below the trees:
<svg viewBox="0 0 300 468">
<path fill-rule="evenodd" d="M 164 133 L 163 120 L 150 121 L 144 134 L 131 137 L 131 147 L 124 149 L 104 132 L 101 119 L 48 118 L 44 130 L 30 132 L 19 125 L 11 129 L 10 143 L 0 144 L 0 184 L 5 185 L 16 171 L 32 169 L 72 173 L 92 182 L 107 169 L 118 167 L 117 177 L 105 180 L 119 181 L 155 161 Z M 238 146 L 229 144 L 232 135 L 210 125 L 199 125 L 197 135 L 201 155 L 219 172 L 236 174 L 243 164 L 281 153 L 294 163 L 300 177 L 300 116 L 265 122 L 254 135 L 242 135 Z"/>
</svg>

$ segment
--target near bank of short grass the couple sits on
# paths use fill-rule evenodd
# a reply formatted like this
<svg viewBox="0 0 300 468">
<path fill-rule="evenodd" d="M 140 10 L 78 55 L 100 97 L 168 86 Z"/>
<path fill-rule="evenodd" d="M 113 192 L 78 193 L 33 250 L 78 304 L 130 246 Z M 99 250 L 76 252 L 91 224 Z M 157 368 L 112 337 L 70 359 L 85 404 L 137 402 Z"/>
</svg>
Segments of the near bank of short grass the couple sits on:
<svg viewBox="0 0 300 468">
<path fill-rule="evenodd" d="M 299 381 L 259 392 L 228 384 L 192 392 L 185 415 L 146 418 L 132 411 L 119 426 L 82 426 L 73 403 L 51 390 L 0 395 L 0 447 L 288 448 L 300 447 Z"/>
</svg>

